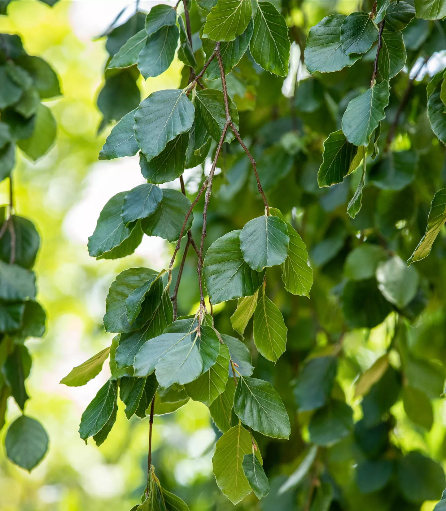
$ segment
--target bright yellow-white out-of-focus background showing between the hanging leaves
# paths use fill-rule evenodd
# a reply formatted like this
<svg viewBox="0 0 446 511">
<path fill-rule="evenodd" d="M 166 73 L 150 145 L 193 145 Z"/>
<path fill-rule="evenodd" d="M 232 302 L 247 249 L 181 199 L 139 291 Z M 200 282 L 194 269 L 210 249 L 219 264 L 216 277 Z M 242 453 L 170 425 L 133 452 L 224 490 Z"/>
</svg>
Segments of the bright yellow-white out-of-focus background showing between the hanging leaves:
<svg viewBox="0 0 446 511">
<path fill-rule="evenodd" d="M 148 11 L 152 4 L 140 2 L 139 8 Z M 36 0 L 19 0 L 10 4 L 8 16 L 0 18 L 1 32 L 19 34 L 29 54 L 51 63 L 63 92 L 60 99 L 47 103 L 58 124 L 55 146 L 36 164 L 19 158 L 15 171 L 17 213 L 33 220 L 42 239 L 36 265 L 38 299 L 48 316 L 45 336 L 27 342 L 33 356 L 28 380 L 32 399 L 27 414 L 42 422 L 51 445 L 32 474 L 14 466 L 0 450 L 1 511 L 126 511 L 139 501 L 145 486 L 148 419 L 140 421 L 134 416 L 127 421 L 120 403 L 116 424 L 101 447 L 92 442 L 85 445 L 78 434 L 82 411 L 109 377 L 108 364 L 84 387 L 59 384 L 73 366 L 110 344 L 111 334 L 104 333 L 102 317 L 115 275 L 131 266 L 160 270 L 168 264 L 173 248 L 164 240 L 145 236 L 135 254 L 116 261 L 96 261 L 86 249 L 105 202 L 115 193 L 144 182 L 137 157 L 97 159 L 109 129 L 97 135 L 101 116 L 96 97 L 107 54 L 104 38 L 95 36 L 127 5 L 118 0 L 60 0 L 49 8 Z M 349 14 L 357 8 L 358 2 L 353 0 L 306 0 L 293 12 L 293 20 L 310 27 L 327 9 Z M 133 11 L 134 4 L 129 9 Z M 181 67 L 175 59 L 166 73 L 147 81 L 141 79 L 138 84 L 142 97 L 155 90 L 178 87 Z M 201 171 L 186 173 L 188 190 L 196 189 L 200 176 Z M 167 184 L 179 189 L 179 183 Z M 7 201 L 7 193 L 5 181 L 0 185 L 1 201 Z M 185 278 L 189 278 L 187 274 Z M 180 312 L 193 312 L 197 305 L 194 287 L 180 288 Z M 361 366 L 368 367 L 388 344 L 387 325 L 367 336 L 355 335 L 349 338 L 352 353 Z M 346 346 L 348 349 L 348 342 Z M 353 382 L 344 383 L 344 390 L 348 386 L 353 389 Z M 401 408 L 401 402 L 395 406 Z M 18 414 L 13 400 L 9 400 L 8 422 Z M 446 407 L 437 400 L 430 433 L 422 437 L 405 429 L 403 421 L 398 441 L 407 450 L 419 449 L 439 459 L 444 450 L 445 425 Z M 233 508 L 218 491 L 212 474 L 216 435 L 207 408 L 201 403 L 190 401 L 176 412 L 155 419 L 157 475 L 163 486 L 190 504 L 192 511 Z M 252 505 L 257 508 L 254 501 Z M 249 498 L 242 505 L 250 508 Z M 434 505 L 426 502 L 422 511 L 431 511 Z M 274 492 L 261 503 L 262 511 L 286 507 L 285 502 L 274 498 Z"/>
</svg>

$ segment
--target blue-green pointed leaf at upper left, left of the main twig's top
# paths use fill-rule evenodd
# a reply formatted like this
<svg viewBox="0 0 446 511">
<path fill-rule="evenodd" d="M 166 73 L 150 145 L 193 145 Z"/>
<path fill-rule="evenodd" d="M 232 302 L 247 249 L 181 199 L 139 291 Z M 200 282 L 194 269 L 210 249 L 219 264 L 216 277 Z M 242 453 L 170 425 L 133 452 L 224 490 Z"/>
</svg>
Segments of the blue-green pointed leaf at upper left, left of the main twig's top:
<svg viewBox="0 0 446 511">
<path fill-rule="evenodd" d="M 147 80 L 164 73 L 175 57 L 179 32 L 176 25 L 166 25 L 147 38 L 138 55 L 138 69 Z"/>
</svg>

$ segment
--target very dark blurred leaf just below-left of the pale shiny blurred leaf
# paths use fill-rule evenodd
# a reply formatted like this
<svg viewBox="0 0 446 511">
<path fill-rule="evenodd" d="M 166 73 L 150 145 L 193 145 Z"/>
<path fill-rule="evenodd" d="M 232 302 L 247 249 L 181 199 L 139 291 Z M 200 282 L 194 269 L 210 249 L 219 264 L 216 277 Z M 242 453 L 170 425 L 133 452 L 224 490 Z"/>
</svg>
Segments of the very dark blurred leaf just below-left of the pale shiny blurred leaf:
<svg viewBox="0 0 446 511">
<path fill-rule="evenodd" d="M 386 319 L 392 307 L 378 290 L 374 278 L 371 278 L 345 284 L 342 310 L 349 328 L 373 328 Z"/>
</svg>

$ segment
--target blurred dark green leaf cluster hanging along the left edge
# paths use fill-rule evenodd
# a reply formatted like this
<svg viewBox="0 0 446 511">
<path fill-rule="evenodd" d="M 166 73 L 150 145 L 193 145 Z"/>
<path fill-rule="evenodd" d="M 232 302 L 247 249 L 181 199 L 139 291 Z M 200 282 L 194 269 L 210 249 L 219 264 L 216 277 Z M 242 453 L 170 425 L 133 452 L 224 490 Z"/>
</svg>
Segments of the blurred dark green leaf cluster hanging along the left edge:
<svg viewBox="0 0 446 511">
<path fill-rule="evenodd" d="M 0 14 L 6 14 L 8 4 L 0 3 Z M 32 271 L 40 237 L 35 225 L 14 211 L 15 157 L 17 148 L 33 161 L 48 152 L 56 122 L 41 101 L 59 95 L 59 80 L 48 62 L 28 55 L 18 35 L 0 34 L 0 181 L 10 181 L 10 203 L 0 209 L 0 429 L 10 396 L 25 410 L 25 383 L 32 365 L 25 341 L 45 332 L 45 312 L 36 301 Z M 9 426 L 5 437 L 8 458 L 28 471 L 43 458 L 48 443 L 43 426 L 25 414 Z"/>
</svg>

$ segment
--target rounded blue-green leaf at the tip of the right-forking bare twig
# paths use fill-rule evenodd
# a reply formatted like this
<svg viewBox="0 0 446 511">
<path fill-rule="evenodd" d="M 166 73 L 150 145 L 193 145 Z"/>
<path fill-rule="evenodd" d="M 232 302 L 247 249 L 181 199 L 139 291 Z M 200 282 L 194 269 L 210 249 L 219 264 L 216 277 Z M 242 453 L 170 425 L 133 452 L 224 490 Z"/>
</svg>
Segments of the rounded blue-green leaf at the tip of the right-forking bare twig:
<svg viewBox="0 0 446 511">
<path fill-rule="evenodd" d="M 289 244 L 287 224 L 275 216 L 254 218 L 240 233 L 243 259 L 256 271 L 282 264 L 287 259 Z"/>
</svg>

